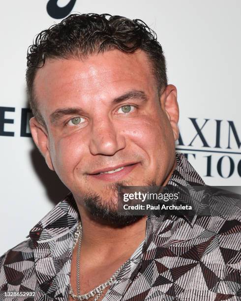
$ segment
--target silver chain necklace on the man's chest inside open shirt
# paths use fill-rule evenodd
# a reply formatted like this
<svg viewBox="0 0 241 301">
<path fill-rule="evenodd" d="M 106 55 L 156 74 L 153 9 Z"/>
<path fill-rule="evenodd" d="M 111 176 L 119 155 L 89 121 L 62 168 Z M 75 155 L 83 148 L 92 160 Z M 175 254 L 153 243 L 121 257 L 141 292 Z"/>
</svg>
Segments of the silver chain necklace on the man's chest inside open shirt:
<svg viewBox="0 0 241 301">
<path fill-rule="evenodd" d="M 88 300 L 91 297 L 94 297 L 96 294 L 97 296 L 94 298 L 94 301 L 97 301 L 101 294 L 103 293 L 104 289 L 111 285 L 115 280 L 116 277 L 121 270 L 121 268 L 129 261 L 129 259 L 122 264 L 122 266 L 110 277 L 109 280 L 107 280 L 105 283 L 100 284 L 99 286 L 95 287 L 93 290 L 91 290 L 89 293 L 80 295 L 80 247 L 81 247 L 81 241 L 82 241 L 82 224 L 81 222 L 77 226 L 77 229 L 74 233 L 74 244 L 73 244 L 73 249 L 75 248 L 77 241 L 79 239 L 79 244 L 78 244 L 78 253 L 77 253 L 77 265 L 76 265 L 76 274 L 77 274 L 77 279 L 76 279 L 76 284 L 77 284 L 77 295 L 74 294 L 74 291 L 71 287 L 69 288 L 69 295 L 74 299 L 74 300 Z"/>
</svg>

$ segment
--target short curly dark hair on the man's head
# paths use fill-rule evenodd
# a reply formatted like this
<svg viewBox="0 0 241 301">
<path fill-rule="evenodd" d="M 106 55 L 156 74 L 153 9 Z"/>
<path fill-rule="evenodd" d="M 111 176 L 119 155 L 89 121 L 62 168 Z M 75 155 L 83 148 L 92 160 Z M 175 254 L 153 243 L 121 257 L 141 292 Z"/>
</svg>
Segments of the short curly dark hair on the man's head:
<svg viewBox="0 0 241 301">
<path fill-rule="evenodd" d="M 156 33 L 146 23 L 109 14 L 72 14 L 59 24 L 41 31 L 28 48 L 27 92 L 36 119 L 46 126 L 33 92 L 36 72 L 46 59 L 83 58 L 113 49 L 125 53 L 133 53 L 137 49 L 145 51 L 157 80 L 158 91 L 167 86 L 162 47 Z"/>
</svg>

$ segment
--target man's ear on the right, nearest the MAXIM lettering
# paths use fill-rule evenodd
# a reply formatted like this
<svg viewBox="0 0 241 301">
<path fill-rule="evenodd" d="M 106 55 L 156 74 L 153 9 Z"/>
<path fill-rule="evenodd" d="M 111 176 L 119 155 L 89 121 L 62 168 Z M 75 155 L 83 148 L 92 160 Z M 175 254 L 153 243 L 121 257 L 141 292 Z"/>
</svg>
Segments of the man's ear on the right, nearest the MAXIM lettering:
<svg viewBox="0 0 241 301">
<path fill-rule="evenodd" d="M 173 85 L 167 85 L 160 97 L 162 110 L 166 113 L 174 134 L 175 141 L 179 137 L 179 107 L 177 101 L 177 88 Z"/>
</svg>

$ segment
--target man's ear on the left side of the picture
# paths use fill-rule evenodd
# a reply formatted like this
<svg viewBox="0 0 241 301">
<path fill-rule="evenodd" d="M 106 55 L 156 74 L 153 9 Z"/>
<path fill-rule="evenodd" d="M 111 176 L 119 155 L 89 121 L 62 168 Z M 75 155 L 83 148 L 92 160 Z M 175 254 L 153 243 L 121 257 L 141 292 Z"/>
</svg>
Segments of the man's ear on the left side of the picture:
<svg viewBox="0 0 241 301">
<path fill-rule="evenodd" d="M 49 151 L 49 137 L 48 132 L 45 127 L 40 124 L 35 117 L 30 119 L 30 130 L 32 134 L 32 139 L 36 144 L 37 148 L 44 156 L 45 161 L 48 167 L 51 170 L 54 170 L 54 166 L 51 160 L 50 151 Z"/>
</svg>

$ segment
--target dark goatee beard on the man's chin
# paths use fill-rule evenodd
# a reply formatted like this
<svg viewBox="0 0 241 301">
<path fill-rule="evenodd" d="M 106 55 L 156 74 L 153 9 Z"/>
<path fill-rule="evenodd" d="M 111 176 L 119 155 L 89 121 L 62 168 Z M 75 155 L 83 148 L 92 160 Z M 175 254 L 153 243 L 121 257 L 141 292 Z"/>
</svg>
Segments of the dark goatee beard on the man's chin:
<svg viewBox="0 0 241 301">
<path fill-rule="evenodd" d="M 116 192 L 124 186 L 125 181 L 119 181 L 108 186 L 108 192 L 110 189 Z M 147 181 L 147 189 L 156 186 L 154 180 Z M 107 195 L 110 193 L 107 193 Z M 117 196 L 116 196 L 117 199 Z M 144 215 L 121 215 L 117 210 L 117 202 L 109 201 L 105 202 L 97 193 L 86 194 L 81 203 L 84 205 L 87 214 L 90 219 L 97 221 L 102 225 L 108 225 L 113 228 L 121 228 L 131 225 L 138 220 L 144 218 Z"/>
</svg>

